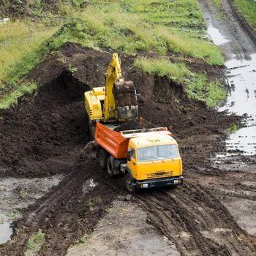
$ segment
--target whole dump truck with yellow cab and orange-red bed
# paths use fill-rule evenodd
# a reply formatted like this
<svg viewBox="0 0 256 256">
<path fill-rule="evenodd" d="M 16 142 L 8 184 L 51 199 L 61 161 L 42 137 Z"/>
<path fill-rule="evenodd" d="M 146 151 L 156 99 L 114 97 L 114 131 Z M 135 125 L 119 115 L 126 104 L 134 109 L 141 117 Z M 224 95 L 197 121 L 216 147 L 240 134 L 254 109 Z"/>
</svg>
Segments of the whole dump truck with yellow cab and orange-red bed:
<svg viewBox="0 0 256 256">
<path fill-rule="evenodd" d="M 99 165 L 110 176 L 124 173 L 129 192 L 183 182 L 178 145 L 166 127 L 116 132 L 97 122 L 95 140 Z"/>
</svg>

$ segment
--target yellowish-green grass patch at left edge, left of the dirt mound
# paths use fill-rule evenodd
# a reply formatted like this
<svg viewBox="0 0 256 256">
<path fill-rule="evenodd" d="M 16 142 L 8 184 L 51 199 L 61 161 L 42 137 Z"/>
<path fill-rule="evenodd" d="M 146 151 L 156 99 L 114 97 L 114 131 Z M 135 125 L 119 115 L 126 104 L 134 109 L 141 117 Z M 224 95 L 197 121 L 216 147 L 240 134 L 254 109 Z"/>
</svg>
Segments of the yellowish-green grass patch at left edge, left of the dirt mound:
<svg viewBox="0 0 256 256">
<path fill-rule="evenodd" d="M 20 79 L 49 52 L 46 40 L 57 27 L 16 20 L 0 24 L 0 108 L 9 108 L 18 97 L 37 89 Z"/>
</svg>

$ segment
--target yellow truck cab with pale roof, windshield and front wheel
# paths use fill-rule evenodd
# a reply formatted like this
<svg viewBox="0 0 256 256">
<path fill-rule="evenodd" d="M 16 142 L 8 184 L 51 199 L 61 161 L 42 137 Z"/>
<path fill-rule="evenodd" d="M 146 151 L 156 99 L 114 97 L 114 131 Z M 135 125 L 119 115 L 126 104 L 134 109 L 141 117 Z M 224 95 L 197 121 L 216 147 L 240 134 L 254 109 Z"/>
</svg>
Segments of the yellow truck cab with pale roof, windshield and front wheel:
<svg viewBox="0 0 256 256">
<path fill-rule="evenodd" d="M 182 183 L 182 161 L 178 145 L 170 135 L 145 134 L 129 140 L 126 173 L 127 189 L 176 185 Z"/>
</svg>

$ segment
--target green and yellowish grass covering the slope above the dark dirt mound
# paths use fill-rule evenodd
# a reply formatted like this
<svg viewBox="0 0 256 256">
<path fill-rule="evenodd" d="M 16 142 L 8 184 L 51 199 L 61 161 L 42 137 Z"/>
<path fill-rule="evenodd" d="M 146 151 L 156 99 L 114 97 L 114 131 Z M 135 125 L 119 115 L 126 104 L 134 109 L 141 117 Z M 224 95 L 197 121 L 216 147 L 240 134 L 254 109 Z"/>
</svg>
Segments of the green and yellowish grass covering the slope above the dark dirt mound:
<svg viewBox="0 0 256 256">
<path fill-rule="evenodd" d="M 8 108 L 23 92 L 35 89 L 35 85 L 28 86 L 20 79 L 65 42 L 78 42 L 96 50 L 113 48 L 130 55 L 143 51 L 158 56 L 178 56 L 181 60 L 189 56 L 203 59 L 207 64 L 224 63 L 219 48 L 206 39 L 206 23 L 197 0 L 62 3 L 65 4 L 59 6 L 60 23 L 64 23 L 61 29 L 48 26 L 48 23 L 58 23 L 60 18 L 45 15 L 45 3 L 39 0 L 31 0 L 29 5 L 37 22 L 17 20 L 0 25 L 0 108 Z M 167 64 L 166 69 L 176 72 L 169 74 L 171 79 L 182 82 L 182 72 L 187 75 L 187 68 L 182 64 L 170 66 Z M 76 67 L 70 67 L 70 71 L 75 72 Z"/>
</svg>

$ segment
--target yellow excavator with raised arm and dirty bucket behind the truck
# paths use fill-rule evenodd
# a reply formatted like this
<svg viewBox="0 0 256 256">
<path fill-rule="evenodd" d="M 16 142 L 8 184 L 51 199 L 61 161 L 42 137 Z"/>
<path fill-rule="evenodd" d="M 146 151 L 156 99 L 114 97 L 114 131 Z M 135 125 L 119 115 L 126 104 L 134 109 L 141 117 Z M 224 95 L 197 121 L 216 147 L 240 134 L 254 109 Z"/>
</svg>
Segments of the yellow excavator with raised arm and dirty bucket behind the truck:
<svg viewBox="0 0 256 256">
<path fill-rule="evenodd" d="M 124 82 L 121 61 L 113 53 L 105 73 L 105 86 L 84 93 L 90 121 L 129 121 L 138 118 L 138 99 L 132 81 Z"/>
</svg>

